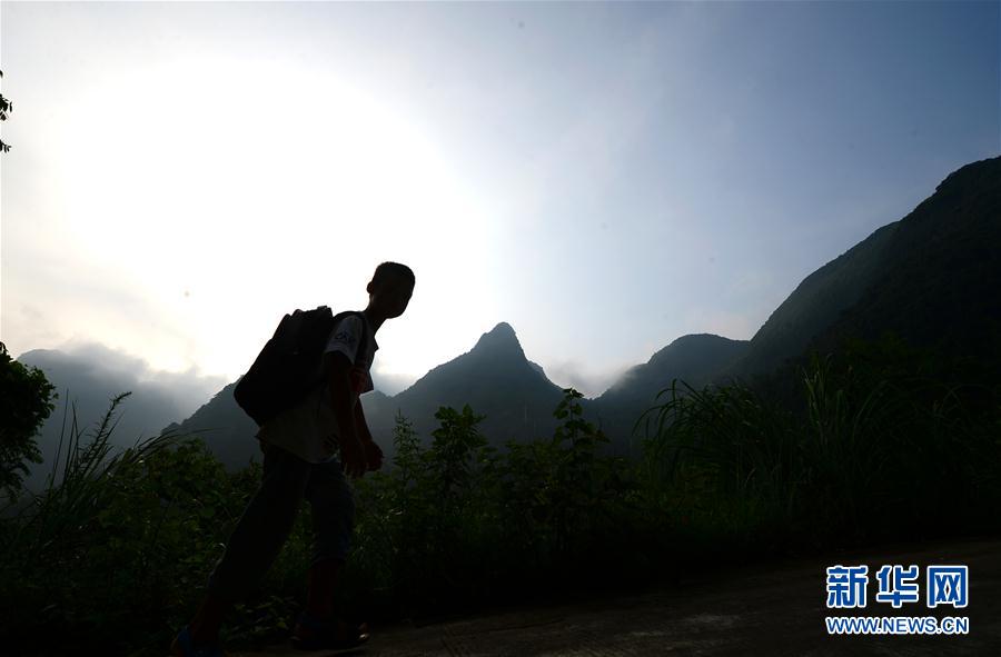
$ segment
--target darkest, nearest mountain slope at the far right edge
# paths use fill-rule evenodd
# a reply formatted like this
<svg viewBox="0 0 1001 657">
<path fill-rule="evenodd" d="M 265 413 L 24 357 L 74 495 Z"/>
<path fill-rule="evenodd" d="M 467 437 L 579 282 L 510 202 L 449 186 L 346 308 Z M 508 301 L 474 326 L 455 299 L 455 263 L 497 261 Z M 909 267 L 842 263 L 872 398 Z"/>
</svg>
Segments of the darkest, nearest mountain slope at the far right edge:
<svg viewBox="0 0 1001 657">
<path fill-rule="evenodd" d="M 845 336 L 892 331 L 931 349 L 943 372 L 1001 368 L 1001 157 L 949 175 L 898 222 L 878 276 L 859 300 L 815 336 L 826 351 Z"/>
</svg>

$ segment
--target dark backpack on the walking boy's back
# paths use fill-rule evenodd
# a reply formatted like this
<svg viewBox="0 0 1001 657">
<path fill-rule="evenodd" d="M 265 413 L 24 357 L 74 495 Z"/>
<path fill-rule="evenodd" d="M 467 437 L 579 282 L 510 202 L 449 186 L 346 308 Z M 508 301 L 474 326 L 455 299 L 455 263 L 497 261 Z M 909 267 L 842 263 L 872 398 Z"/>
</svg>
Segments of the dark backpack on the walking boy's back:
<svg viewBox="0 0 1001 657">
<path fill-rule="evenodd" d="M 361 312 L 346 310 L 334 316 L 330 308 L 319 306 L 313 310 L 296 309 L 281 318 L 275 335 L 232 391 L 237 404 L 258 426 L 291 408 L 324 384 L 324 348 L 337 322 L 349 315 L 360 316 Z M 364 318 L 363 326 L 366 326 Z M 367 342 L 368 331 L 364 330 L 359 351 Z"/>
</svg>

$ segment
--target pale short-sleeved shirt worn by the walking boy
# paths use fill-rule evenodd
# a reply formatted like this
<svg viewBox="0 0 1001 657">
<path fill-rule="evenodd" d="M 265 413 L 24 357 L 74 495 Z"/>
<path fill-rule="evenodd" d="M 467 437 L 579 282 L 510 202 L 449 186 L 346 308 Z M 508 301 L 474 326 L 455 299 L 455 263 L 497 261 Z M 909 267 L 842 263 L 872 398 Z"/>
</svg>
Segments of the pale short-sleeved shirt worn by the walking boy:
<svg viewBox="0 0 1001 657">
<path fill-rule="evenodd" d="M 358 404 L 358 396 L 373 390 L 371 361 L 379 348 L 368 319 L 365 316 L 348 315 L 330 331 L 324 356 L 340 351 L 351 362 L 351 408 Z M 364 322 L 364 323 L 363 323 Z M 360 352 L 363 330 L 368 332 L 368 344 Z M 340 430 L 334 407 L 330 405 L 330 388 L 325 381 L 309 392 L 296 406 L 288 408 L 257 431 L 257 438 L 277 445 L 311 464 L 321 464 L 337 458 L 337 437 Z"/>
</svg>

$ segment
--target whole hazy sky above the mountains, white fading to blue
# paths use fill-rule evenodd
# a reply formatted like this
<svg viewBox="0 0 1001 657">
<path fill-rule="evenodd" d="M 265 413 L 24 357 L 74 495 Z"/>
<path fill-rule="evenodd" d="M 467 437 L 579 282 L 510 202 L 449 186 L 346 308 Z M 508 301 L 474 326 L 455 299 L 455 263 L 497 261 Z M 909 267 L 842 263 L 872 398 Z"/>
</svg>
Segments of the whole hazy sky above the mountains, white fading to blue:
<svg viewBox="0 0 1001 657">
<path fill-rule="evenodd" d="M 218 389 L 397 260 L 379 389 L 507 321 L 594 396 L 750 339 L 999 155 L 999 31 L 998 2 L 0 2 L 0 339 Z"/>
</svg>

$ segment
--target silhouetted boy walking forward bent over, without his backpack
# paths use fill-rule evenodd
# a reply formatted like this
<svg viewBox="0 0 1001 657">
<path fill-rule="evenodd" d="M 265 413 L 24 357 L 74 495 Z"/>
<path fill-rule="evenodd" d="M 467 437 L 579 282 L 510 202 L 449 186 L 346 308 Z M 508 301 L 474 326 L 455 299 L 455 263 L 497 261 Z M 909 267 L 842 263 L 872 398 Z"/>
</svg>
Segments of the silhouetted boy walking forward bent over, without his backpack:
<svg viewBox="0 0 1001 657">
<path fill-rule="evenodd" d="M 198 613 L 174 639 L 174 655 L 225 655 L 219 646 L 222 617 L 270 568 L 304 497 L 313 511 L 314 549 L 306 609 L 293 633 L 293 645 L 345 648 L 368 638 L 364 624 L 347 624 L 334 616 L 334 587 L 347 558 L 355 510 L 344 472 L 360 477 L 383 465 L 383 451 L 371 439 L 358 395 L 373 389 L 375 334 L 384 321 L 403 315 L 414 283 L 409 267 L 379 265 L 366 288 L 364 319 L 347 316 L 331 331 L 324 354 L 327 384 L 258 431 L 264 451 L 260 486 L 209 577 Z"/>
</svg>

